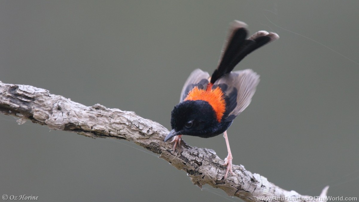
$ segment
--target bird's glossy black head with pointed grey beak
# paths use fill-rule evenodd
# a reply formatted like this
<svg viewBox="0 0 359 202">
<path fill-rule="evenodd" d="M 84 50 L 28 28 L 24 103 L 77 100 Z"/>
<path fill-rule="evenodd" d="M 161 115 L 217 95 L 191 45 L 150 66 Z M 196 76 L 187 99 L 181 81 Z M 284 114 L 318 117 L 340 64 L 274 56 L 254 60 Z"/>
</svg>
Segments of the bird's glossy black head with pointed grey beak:
<svg viewBox="0 0 359 202">
<path fill-rule="evenodd" d="M 213 107 L 203 100 L 187 100 L 175 106 L 171 113 L 172 131 L 164 139 L 167 141 L 176 135 L 213 137 L 217 128 Z"/>
</svg>

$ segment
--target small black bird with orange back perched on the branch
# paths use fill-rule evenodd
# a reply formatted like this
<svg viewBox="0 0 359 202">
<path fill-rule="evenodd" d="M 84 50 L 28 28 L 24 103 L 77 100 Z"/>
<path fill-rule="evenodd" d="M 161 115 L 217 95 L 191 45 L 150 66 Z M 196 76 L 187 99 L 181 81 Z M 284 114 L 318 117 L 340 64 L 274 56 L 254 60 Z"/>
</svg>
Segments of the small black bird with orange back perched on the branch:
<svg viewBox="0 0 359 202">
<path fill-rule="evenodd" d="M 180 144 L 181 136 L 209 138 L 224 133 L 228 156 L 223 165 L 232 172 L 232 153 L 230 152 L 227 129 L 233 119 L 250 104 L 259 75 L 251 69 L 232 72 L 234 67 L 257 48 L 279 38 L 276 33 L 258 31 L 248 39 L 247 24 L 234 20 L 225 41 L 217 69 L 211 77 L 208 72 L 194 70 L 188 77 L 181 92 L 180 103 L 171 113 L 171 132 L 165 137 L 174 137 L 173 150 Z"/>
</svg>

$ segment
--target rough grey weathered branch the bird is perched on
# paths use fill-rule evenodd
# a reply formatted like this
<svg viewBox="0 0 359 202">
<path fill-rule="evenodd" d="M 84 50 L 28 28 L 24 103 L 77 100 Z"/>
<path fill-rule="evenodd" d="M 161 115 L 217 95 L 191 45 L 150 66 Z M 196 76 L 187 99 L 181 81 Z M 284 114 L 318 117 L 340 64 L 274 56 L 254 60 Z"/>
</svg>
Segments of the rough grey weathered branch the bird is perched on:
<svg viewBox="0 0 359 202">
<path fill-rule="evenodd" d="M 322 198 L 302 196 L 287 191 L 267 181 L 259 174 L 252 174 L 242 165 L 233 165 L 233 175 L 223 180 L 224 163 L 213 150 L 191 147 L 182 142 L 180 152 L 172 151 L 171 143 L 163 139 L 168 130 L 159 123 L 141 118 L 132 111 L 108 109 L 102 105 L 85 106 L 48 90 L 26 85 L 0 82 L 0 112 L 47 125 L 55 130 L 75 132 L 92 138 L 126 139 L 154 152 L 177 169 L 185 171 L 192 183 L 201 187 L 209 184 L 223 189 L 229 196 L 244 201 L 326 201 L 328 187 Z M 264 199 L 261 197 L 267 197 Z"/>
</svg>

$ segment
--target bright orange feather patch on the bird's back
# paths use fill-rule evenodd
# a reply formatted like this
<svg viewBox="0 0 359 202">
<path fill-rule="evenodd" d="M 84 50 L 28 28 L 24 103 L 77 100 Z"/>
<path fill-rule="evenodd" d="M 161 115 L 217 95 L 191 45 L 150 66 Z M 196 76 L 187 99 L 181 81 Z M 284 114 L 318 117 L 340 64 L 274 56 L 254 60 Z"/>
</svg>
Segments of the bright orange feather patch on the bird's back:
<svg viewBox="0 0 359 202">
<path fill-rule="evenodd" d="M 211 86 L 212 87 L 212 86 Z M 184 101 L 186 100 L 203 100 L 207 101 L 213 108 L 216 113 L 218 122 L 222 119 L 225 111 L 225 101 L 222 89 L 219 87 L 215 89 L 207 88 L 199 89 L 195 86 L 187 95 Z"/>
</svg>

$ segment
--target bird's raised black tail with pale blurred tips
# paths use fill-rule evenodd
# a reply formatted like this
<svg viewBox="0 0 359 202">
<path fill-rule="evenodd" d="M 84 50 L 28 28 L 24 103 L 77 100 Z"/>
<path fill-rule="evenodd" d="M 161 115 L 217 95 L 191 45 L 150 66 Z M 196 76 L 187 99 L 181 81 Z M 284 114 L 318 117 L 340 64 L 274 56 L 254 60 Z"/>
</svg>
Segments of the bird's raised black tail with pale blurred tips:
<svg viewBox="0 0 359 202">
<path fill-rule="evenodd" d="M 234 20 L 230 24 L 228 37 L 224 43 L 218 67 L 212 74 L 211 83 L 231 72 L 252 51 L 279 38 L 276 33 L 258 31 L 246 39 L 247 32 L 247 24 L 244 22 Z"/>
</svg>

